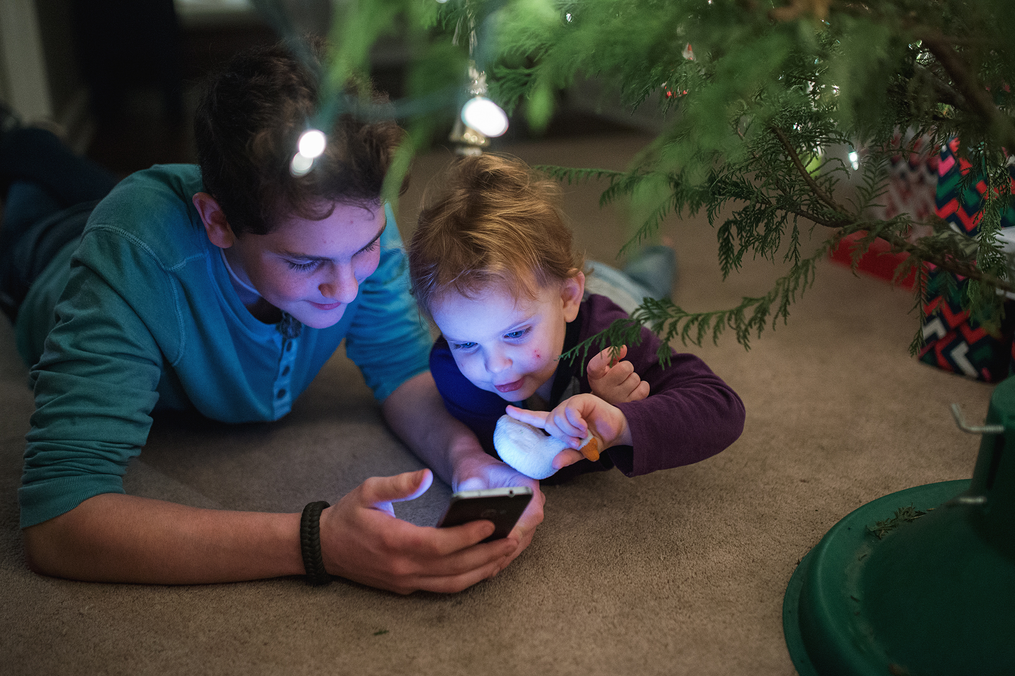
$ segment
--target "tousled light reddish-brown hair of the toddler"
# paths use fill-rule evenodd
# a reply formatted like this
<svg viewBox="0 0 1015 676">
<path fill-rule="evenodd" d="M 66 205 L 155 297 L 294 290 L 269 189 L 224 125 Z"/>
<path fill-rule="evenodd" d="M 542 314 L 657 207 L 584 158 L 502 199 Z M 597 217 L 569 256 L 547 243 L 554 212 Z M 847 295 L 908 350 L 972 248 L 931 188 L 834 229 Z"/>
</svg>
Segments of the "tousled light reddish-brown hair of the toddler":
<svg viewBox="0 0 1015 676">
<path fill-rule="evenodd" d="M 559 187 L 522 160 L 463 157 L 431 185 L 438 192 L 424 196 L 408 251 L 412 292 L 427 315 L 451 290 L 475 297 L 504 284 L 531 299 L 582 269 L 555 205 Z"/>
</svg>

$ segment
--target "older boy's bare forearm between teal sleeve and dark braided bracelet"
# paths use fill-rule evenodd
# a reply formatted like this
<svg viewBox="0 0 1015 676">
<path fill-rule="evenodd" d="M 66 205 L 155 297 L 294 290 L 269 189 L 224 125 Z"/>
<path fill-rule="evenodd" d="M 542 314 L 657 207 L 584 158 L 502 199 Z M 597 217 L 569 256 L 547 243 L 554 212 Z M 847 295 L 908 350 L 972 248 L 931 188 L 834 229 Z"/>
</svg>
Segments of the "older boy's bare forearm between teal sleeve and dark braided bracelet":
<svg viewBox="0 0 1015 676">
<path fill-rule="evenodd" d="M 105 493 L 23 532 L 28 565 L 71 580 L 177 585 L 303 572 L 298 514 Z"/>
</svg>

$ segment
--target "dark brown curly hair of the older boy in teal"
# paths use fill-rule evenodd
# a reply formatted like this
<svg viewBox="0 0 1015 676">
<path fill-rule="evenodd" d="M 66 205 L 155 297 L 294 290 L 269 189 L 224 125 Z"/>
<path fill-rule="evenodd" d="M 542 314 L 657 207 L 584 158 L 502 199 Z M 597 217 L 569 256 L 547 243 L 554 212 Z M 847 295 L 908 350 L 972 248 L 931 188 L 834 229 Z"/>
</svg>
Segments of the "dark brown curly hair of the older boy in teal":
<svg viewBox="0 0 1015 676">
<path fill-rule="evenodd" d="M 266 234 L 292 215 L 327 218 L 335 204 L 381 199 L 404 132 L 395 122 L 338 117 L 328 146 L 306 176 L 289 173 L 296 142 L 318 112 L 327 44 L 309 40 L 310 63 L 284 44 L 240 53 L 208 77 L 194 121 L 205 190 L 233 231 Z M 350 83 L 369 90 L 367 83 Z M 370 92 L 375 103 L 387 98 Z M 403 184 L 403 191 L 405 185 Z"/>
</svg>

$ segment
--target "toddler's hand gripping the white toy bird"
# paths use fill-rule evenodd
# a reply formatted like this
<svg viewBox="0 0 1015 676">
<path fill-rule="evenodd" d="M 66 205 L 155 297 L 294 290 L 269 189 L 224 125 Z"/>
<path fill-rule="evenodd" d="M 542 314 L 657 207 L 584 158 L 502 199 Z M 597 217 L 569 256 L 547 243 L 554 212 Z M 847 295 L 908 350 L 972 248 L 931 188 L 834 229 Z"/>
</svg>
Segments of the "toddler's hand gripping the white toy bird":
<svg viewBox="0 0 1015 676">
<path fill-rule="evenodd" d="M 616 406 L 596 395 L 581 394 L 560 402 L 552 411 L 528 411 L 509 406 L 507 415 L 516 420 L 545 429 L 550 436 L 559 438 L 571 448 L 564 449 L 553 459 L 553 467 L 560 469 L 582 460 L 578 447 L 589 432 L 599 442 L 599 448 L 630 446 L 631 433 L 627 417 Z"/>
</svg>

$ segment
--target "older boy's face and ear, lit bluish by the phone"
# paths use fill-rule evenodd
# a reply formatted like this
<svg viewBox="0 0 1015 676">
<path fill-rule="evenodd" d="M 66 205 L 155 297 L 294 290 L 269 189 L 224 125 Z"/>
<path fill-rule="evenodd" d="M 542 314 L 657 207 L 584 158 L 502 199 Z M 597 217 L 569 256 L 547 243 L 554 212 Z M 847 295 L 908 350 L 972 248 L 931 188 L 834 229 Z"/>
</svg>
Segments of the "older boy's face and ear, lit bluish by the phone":
<svg viewBox="0 0 1015 676">
<path fill-rule="evenodd" d="M 338 204 L 322 220 L 293 217 L 268 234 L 245 233 L 225 249 L 229 266 L 265 300 L 302 324 L 342 319 L 359 284 L 381 261 L 385 210 Z"/>
</svg>

